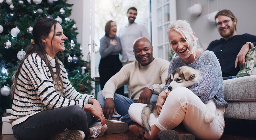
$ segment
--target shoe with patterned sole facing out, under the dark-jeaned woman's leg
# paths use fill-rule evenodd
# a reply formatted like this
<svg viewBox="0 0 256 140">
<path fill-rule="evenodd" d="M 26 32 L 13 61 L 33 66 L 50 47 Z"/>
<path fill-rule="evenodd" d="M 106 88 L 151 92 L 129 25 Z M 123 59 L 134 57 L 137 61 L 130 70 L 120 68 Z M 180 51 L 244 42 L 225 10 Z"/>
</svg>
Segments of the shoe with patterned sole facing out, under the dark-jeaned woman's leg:
<svg viewBox="0 0 256 140">
<path fill-rule="evenodd" d="M 67 131 L 61 132 L 59 134 L 50 136 L 47 139 L 50 139 L 50 140 L 61 140 L 61 139 L 83 140 L 84 136 L 85 135 L 84 135 L 83 131 L 81 131 L 81 130 L 67 130 Z"/>
</svg>

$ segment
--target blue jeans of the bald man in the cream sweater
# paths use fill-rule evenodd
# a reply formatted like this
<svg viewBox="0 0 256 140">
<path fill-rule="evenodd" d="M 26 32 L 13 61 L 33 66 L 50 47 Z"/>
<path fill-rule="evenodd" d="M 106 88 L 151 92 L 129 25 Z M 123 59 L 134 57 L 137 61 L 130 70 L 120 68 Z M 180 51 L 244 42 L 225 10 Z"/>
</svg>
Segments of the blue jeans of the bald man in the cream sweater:
<svg viewBox="0 0 256 140">
<path fill-rule="evenodd" d="M 150 98 L 150 102 L 156 101 L 158 98 L 158 95 L 152 94 Z M 97 100 L 100 102 L 100 104 L 104 107 L 105 99 L 102 96 L 102 90 L 98 92 L 97 94 Z M 120 114 L 122 117 L 119 121 L 125 122 L 129 125 L 134 124 L 135 122 L 131 120 L 130 115 L 128 113 L 129 107 L 132 103 L 135 103 L 136 101 L 127 98 L 120 94 L 114 94 L 114 103 L 115 103 L 115 110 L 118 114 Z M 114 116 L 114 114 L 113 114 Z"/>
</svg>

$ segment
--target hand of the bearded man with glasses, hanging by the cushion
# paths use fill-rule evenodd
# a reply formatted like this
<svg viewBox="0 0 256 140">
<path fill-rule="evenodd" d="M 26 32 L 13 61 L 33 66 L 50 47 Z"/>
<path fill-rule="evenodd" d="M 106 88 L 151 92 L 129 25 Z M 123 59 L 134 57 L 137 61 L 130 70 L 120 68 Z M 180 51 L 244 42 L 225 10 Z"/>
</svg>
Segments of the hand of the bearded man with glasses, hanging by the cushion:
<svg viewBox="0 0 256 140">
<path fill-rule="evenodd" d="M 252 48 L 254 47 L 253 43 L 251 43 Z M 237 55 L 237 59 L 235 61 L 235 68 L 237 67 L 238 62 L 243 66 L 245 66 L 245 56 L 247 55 L 247 53 L 249 52 L 249 45 L 248 44 L 244 44 L 241 48 L 241 50 L 239 51 L 238 55 Z"/>
</svg>

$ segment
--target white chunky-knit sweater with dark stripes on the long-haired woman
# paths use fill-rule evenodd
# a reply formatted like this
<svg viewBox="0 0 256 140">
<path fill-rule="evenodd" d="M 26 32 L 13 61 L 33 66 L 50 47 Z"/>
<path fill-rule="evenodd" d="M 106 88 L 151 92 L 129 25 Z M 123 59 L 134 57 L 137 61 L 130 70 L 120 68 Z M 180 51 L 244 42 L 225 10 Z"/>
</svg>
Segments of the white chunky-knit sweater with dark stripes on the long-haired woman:
<svg viewBox="0 0 256 140">
<path fill-rule="evenodd" d="M 50 60 L 51 57 L 48 56 Z M 67 76 L 64 65 L 60 63 L 60 71 L 63 81 L 63 94 L 54 89 L 49 68 L 46 63 L 33 53 L 29 55 L 20 69 L 17 86 L 14 91 L 12 113 L 8 123 L 12 127 L 24 122 L 29 116 L 40 111 L 57 109 L 61 107 L 78 105 L 84 108 L 92 95 L 80 94 L 77 92 Z M 51 60 L 54 73 L 56 72 L 55 60 Z"/>
</svg>

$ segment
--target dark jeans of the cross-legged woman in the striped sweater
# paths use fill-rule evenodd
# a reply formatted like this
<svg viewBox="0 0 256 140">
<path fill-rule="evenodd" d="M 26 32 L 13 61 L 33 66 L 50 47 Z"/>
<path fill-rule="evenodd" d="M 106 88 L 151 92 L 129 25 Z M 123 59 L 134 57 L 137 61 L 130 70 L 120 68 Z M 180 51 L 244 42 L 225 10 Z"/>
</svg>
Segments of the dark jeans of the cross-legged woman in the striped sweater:
<svg viewBox="0 0 256 140">
<path fill-rule="evenodd" d="M 81 130 L 87 138 L 90 135 L 89 126 L 96 121 L 89 111 L 73 105 L 30 116 L 26 121 L 13 126 L 13 134 L 18 140 L 46 139 L 69 129 Z"/>
</svg>

